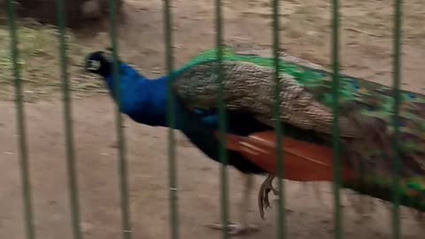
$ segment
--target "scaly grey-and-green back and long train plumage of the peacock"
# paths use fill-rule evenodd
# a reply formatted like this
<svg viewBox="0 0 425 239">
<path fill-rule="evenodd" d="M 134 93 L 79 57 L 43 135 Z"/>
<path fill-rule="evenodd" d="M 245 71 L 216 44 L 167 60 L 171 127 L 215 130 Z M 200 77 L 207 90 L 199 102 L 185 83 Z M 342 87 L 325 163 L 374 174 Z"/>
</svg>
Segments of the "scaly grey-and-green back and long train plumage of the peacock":
<svg viewBox="0 0 425 239">
<path fill-rule="evenodd" d="M 230 110 L 251 112 L 274 126 L 274 59 L 223 50 L 224 97 Z M 279 64 L 281 119 L 286 127 L 311 130 L 330 143 L 332 134 L 332 73 L 282 60 Z M 216 51 L 192 59 L 174 82 L 174 90 L 189 107 L 217 107 Z M 425 96 L 402 91 L 400 152 L 406 178 L 425 177 Z M 392 173 L 393 89 L 371 81 L 341 75 L 339 120 L 344 159 L 369 176 L 388 179 Z M 289 133 L 290 132 L 286 132 Z M 297 133 L 295 133 L 297 134 Z M 290 135 L 297 137 L 298 135 Z M 386 181 L 386 180 L 383 180 Z M 423 180 L 408 188 L 423 193 Z M 390 185 L 390 184 L 386 184 Z M 390 187 L 390 186 L 388 186 Z"/>
</svg>

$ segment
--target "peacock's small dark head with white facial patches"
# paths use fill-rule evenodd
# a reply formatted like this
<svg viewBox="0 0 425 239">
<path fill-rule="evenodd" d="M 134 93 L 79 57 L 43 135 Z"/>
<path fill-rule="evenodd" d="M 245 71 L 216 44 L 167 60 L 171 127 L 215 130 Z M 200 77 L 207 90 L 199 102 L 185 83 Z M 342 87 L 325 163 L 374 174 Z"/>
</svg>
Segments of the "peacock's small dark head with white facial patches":
<svg viewBox="0 0 425 239">
<path fill-rule="evenodd" d="M 84 63 L 84 68 L 90 73 L 97 73 L 103 77 L 112 73 L 112 58 L 104 51 L 95 51 L 89 54 Z"/>
</svg>

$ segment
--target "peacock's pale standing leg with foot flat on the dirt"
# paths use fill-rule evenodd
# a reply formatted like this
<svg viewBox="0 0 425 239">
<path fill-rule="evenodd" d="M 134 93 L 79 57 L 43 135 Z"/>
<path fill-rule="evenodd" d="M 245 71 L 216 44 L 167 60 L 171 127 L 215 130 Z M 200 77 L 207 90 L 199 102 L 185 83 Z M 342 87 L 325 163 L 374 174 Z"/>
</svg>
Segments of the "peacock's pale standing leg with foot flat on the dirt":
<svg viewBox="0 0 425 239">
<path fill-rule="evenodd" d="M 252 174 L 243 174 L 243 195 L 239 203 L 239 220 L 240 223 L 229 223 L 228 224 L 228 233 L 229 235 L 243 235 L 250 234 L 259 230 L 257 225 L 252 225 L 248 223 L 248 212 L 251 207 L 250 194 L 254 185 L 254 176 Z M 224 227 L 220 223 L 214 223 L 209 225 L 213 229 L 222 230 Z"/>
</svg>

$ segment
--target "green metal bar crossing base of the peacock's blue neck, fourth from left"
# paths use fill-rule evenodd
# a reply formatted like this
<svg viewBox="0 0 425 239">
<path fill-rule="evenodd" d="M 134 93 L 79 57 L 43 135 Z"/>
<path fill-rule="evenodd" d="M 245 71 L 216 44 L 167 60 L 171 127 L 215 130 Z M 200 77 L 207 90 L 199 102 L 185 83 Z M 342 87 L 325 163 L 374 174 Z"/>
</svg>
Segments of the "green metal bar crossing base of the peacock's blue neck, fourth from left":
<svg viewBox="0 0 425 239">
<path fill-rule="evenodd" d="M 170 0 L 164 0 L 164 32 L 166 42 L 166 71 L 171 78 L 168 81 L 168 107 L 167 107 L 167 125 L 168 125 L 168 176 L 170 184 L 170 227 L 171 238 L 178 239 L 179 232 L 179 212 L 178 212 L 178 194 L 177 194 L 177 172 L 175 162 L 175 144 L 174 144 L 174 128 L 175 128 L 175 115 L 174 115 L 174 92 L 172 90 L 173 83 L 173 33 L 172 33 L 172 12 Z"/>
</svg>

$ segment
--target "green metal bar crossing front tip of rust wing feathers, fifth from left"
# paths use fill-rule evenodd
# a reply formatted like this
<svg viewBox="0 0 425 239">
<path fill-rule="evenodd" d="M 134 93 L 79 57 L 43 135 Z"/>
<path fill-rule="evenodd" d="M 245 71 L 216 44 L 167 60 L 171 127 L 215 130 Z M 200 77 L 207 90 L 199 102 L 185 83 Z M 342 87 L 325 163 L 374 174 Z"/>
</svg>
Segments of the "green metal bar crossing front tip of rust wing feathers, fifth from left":
<svg viewBox="0 0 425 239">
<path fill-rule="evenodd" d="M 223 27 L 222 27 L 222 9 L 221 0 L 215 0 L 215 30 L 216 30 L 216 48 L 219 67 L 217 69 L 217 83 L 219 84 L 219 131 L 220 131 L 220 149 L 219 158 L 220 178 L 221 178 L 221 223 L 223 224 L 223 238 L 228 239 L 228 158 L 226 153 L 226 104 L 224 102 L 224 81 L 223 81 Z"/>
</svg>

